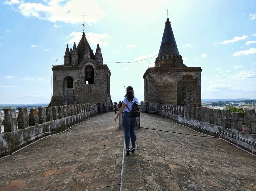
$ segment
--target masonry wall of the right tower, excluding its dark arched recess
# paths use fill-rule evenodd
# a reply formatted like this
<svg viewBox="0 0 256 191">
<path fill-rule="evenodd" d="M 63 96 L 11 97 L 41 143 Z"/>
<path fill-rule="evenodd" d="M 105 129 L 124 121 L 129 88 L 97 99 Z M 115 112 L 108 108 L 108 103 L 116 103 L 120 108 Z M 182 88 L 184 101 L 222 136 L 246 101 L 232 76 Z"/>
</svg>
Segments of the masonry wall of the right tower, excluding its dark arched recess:
<svg viewBox="0 0 256 191">
<path fill-rule="evenodd" d="M 178 81 L 183 76 L 192 75 L 198 82 L 198 105 L 201 107 L 201 76 L 198 71 L 149 71 L 144 76 L 144 101 L 149 103 L 177 105 Z M 194 97 L 193 97 L 194 98 Z"/>
</svg>

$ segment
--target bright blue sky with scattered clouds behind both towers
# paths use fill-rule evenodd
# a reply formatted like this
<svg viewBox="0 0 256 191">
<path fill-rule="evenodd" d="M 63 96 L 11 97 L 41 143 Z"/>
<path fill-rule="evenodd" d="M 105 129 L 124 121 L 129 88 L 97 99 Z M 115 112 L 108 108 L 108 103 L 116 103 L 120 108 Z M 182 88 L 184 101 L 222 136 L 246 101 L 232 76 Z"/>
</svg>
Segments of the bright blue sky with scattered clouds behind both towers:
<svg viewBox="0 0 256 191">
<path fill-rule="evenodd" d="M 83 11 L 94 52 L 99 43 L 104 62 L 132 62 L 158 54 L 167 9 L 184 64 L 202 68 L 202 98 L 256 98 L 256 1 L 4 0 L 0 104 L 50 102 L 51 66 L 78 44 Z M 128 85 L 144 100 L 147 61 L 107 65 L 113 101 Z"/>
</svg>

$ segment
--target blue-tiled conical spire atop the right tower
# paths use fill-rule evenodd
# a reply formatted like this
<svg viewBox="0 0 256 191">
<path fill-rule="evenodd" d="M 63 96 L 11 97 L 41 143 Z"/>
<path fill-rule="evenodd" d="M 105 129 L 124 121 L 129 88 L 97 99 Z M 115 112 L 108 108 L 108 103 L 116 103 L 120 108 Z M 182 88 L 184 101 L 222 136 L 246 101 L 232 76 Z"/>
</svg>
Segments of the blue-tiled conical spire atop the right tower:
<svg viewBox="0 0 256 191">
<path fill-rule="evenodd" d="M 169 18 L 167 18 L 158 56 L 161 58 L 162 56 L 165 56 L 165 55 L 174 55 L 174 54 L 179 55 L 179 51 L 178 51 L 175 38 L 172 32 L 171 23 L 169 21 Z"/>
</svg>

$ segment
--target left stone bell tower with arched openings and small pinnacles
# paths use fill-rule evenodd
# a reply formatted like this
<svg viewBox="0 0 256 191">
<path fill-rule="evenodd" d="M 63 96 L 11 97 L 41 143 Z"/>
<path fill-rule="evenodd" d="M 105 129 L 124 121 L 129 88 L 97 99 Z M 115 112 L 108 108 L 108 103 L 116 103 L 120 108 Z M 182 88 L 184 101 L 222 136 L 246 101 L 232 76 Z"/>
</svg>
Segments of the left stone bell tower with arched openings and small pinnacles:
<svg viewBox="0 0 256 191">
<path fill-rule="evenodd" d="M 99 44 L 95 55 L 83 33 L 73 50 L 67 45 L 64 65 L 52 66 L 53 96 L 49 106 L 79 103 L 98 103 L 103 111 L 112 104 L 110 97 L 111 73 L 103 57 Z"/>
</svg>

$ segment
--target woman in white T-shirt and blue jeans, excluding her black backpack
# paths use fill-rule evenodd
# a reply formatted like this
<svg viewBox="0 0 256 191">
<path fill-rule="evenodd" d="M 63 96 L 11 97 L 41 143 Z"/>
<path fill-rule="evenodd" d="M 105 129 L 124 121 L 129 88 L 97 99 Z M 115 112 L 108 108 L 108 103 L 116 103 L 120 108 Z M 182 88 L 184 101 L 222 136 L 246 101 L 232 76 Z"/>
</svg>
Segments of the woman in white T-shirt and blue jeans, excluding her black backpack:
<svg viewBox="0 0 256 191">
<path fill-rule="evenodd" d="M 130 151 L 135 151 L 135 141 L 136 141 L 136 135 L 135 135 L 135 124 L 137 122 L 137 117 L 132 117 L 130 115 L 130 110 L 132 110 L 132 104 L 134 102 L 138 103 L 137 98 L 134 96 L 133 88 L 132 86 L 128 86 L 126 88 L 126 94 L 124 96 L 124 101 L 122 104 L 121 109 L 117 113 L 117 116 L 115 117 L 115 121 L 117 120 L 117 117 L 122 114 L 123 115 L 123 127 L 124 127 L 124 139 L 125 139 L 125 146 L 126 146 L 126 154 L 130 154 Z M 130 139 L 132 141 L 132 149 L 129 148 L 130 146 Z"/>
</svg>

